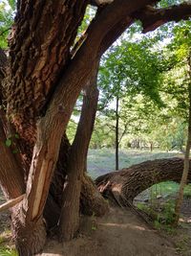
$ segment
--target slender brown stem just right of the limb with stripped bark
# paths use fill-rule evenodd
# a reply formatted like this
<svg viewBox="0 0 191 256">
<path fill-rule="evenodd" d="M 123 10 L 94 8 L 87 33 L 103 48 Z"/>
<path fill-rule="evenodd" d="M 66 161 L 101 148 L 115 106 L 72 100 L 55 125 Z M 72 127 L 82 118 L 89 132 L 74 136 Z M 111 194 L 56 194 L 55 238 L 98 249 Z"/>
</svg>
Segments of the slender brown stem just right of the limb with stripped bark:
<svg viewBox="0 0 191 256">
<path fill-rule="evenodd" d="M 72 239 L 78 230 L 81 183 L 96 118 L 98 100 L 96 77 L 97 66 L 91 84 L 87 84 L 84 88 L 81 116 L 67 163 L 67 180 L 64 184 L 63 206 L 59 221 L 60 238 L 66 241 Z"/>
</svg>

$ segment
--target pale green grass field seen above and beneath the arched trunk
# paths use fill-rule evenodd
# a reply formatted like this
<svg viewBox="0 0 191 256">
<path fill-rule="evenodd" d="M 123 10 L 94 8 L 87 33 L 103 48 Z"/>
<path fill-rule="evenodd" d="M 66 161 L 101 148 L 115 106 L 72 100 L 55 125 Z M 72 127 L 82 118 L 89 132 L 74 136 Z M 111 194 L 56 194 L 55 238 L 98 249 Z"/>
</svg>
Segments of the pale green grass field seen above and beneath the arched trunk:
<svg viewBox="0 0 191 256">
<path fill-rule="evenodd" d="M 155 160 L 160 158 L 169 158 L 181 156 L 178 152 L 166 151 L 138 151 L 138 150 L 120 150 L 119 151 L 119 169 L 130 167 L 131 165 L 139 164 L 147 160 Z M 115 150 L 114 149 L 101 149 L 89 150 L 88 152 L 88 173 L 92 178 L 99 175 L 104 175 L 109 172 L 115 171 Z M 148 194 L 152 191 L 154 197 L 158 195 L 168 198 L 175 195 L 179 189 L 179 184 L 166 181 L 154 185 L 146 192 L 143 192 L 140 197 L 148 198 Z M 184 195 L 186 198 L 191 198 L 191 185 L 186 186 Z"/>
</svg>

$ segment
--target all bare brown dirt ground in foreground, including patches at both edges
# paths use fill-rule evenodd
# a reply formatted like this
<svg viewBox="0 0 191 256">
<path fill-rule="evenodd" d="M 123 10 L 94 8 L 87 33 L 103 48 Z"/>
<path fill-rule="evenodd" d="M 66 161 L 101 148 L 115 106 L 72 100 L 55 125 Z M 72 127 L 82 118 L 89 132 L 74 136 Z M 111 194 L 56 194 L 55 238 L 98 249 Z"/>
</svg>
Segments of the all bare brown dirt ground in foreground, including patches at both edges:
<svg viewBox="0 0 191 256">
<path fill-rule="evenodd" d="M 76 239 L 64 244 L 47 241 L 38 256 L 191 256 L 191 201 L 184 203 L 184 211 L 180 227 L 170 236 L 148 226 L 131 210 L 112 207 L 103 218 L 81 217 Z M 1 213 L 1 234 L 8 229 L 9 214 Z"/>
</svg>

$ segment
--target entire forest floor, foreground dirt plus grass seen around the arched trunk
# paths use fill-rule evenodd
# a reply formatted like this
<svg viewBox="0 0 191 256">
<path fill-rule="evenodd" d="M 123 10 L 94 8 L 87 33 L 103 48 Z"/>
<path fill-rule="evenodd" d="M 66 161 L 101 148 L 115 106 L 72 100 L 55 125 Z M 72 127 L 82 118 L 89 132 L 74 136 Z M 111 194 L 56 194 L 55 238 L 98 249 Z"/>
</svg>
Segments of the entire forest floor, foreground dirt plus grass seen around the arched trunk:
<svg viewBox="0 0 191 256">
<path fill-rule="evenodd" d="M 177 153 L 151 154 L 144 151 L 127 154 L 128 157 L 126 153 L 121 153 L 120 168 L 148 159 L 178 156 Z M 89 152 L 90 175 L 95 177 L 114 170 L 113 151 L 98 151 L 98 158 L 95 155 L 97 155 L 95 151 L 92 151 L 92 154 L 91 151 Z M 153 192 L 152 190 L 144 192 L 137 198 L 137 203 L 148 205 L 151 194 L 157 198 L 155 192 L 161 194 L 157 199 L 159 203 L 163 203 L 166 199 L 173 198 L 177 189 L 177 185 L 173 182 L 165 182 L 153 188 Z M 4 198 L 0 193 L 0 203 L 3 201 Z M 77 238 L 64 244 L 58 244 L 52 239 L 47 242 L 44 252 L 38 256 L 191 256 L 191 197 L 184 199 L 180 225 L 176 229 L 157 230 L 132 211 L 111 207 L 110 212 L 103 218 L 81 217 Z M 0 214 L 0 233 L 0 256 L 16 256 L 12 249 L 8 213 Z"/>
</svg>

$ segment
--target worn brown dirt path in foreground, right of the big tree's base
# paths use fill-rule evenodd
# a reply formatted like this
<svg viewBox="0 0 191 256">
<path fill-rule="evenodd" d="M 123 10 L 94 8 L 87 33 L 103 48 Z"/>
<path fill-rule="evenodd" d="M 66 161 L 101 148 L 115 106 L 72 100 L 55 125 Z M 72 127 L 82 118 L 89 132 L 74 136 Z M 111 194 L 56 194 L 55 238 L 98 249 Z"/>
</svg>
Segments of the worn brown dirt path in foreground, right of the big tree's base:
<svg viewBox="0 0 191 256">
<path fill-rule="evenodd" d="M 172 242 L 131 211 L 111 208 L 104 218 L 84 218 L 77 239 L 47 243 L 40 256 L 176 256 Z"/>
</svg>

